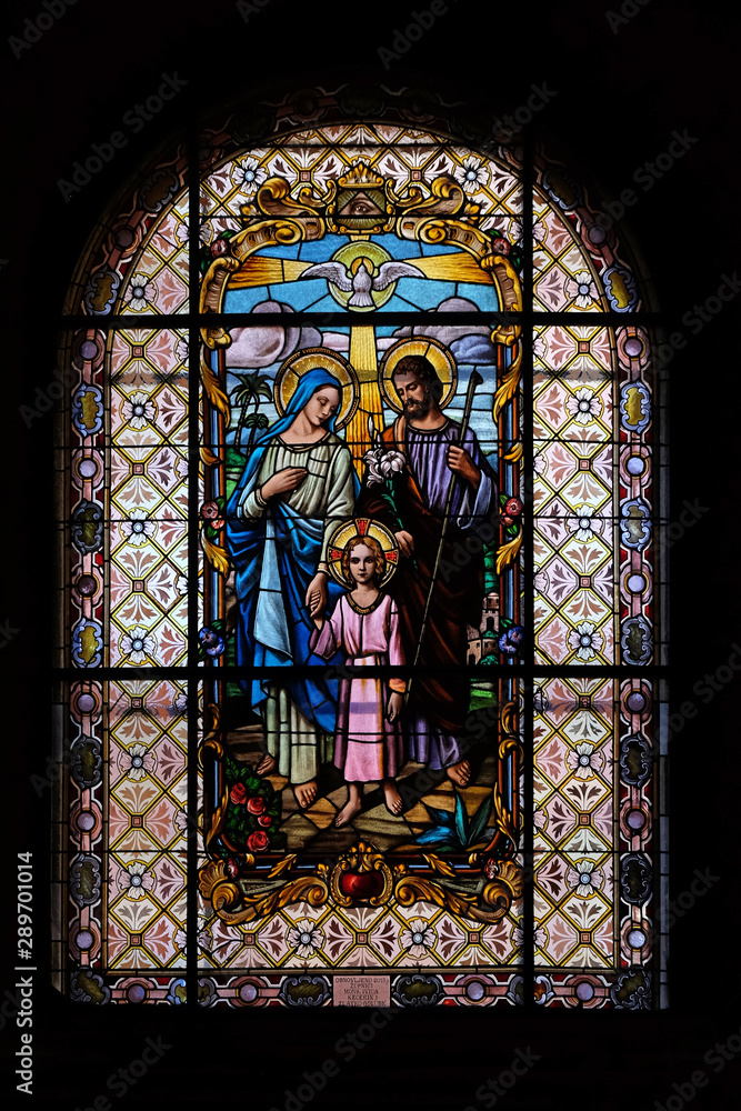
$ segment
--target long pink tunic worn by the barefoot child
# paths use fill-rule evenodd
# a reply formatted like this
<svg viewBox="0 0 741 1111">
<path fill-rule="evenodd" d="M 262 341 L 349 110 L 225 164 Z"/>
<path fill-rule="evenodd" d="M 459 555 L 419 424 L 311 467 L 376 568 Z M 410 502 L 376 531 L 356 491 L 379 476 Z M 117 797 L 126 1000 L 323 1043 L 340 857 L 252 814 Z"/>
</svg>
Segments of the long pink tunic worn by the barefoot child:
<svg viewBox="0 0 741 1111">
<path fill-rule="evenodd" d="M 379 594 L 368 610 L 359 610 L 344 594 L 321 632 L 314 629 L 311 649 L 330 659 L 346 653 L 346 663 L 356 667 L 399 667 L 404 659 L 399 639 L 397 604 L 389 594 Z M 402 691 L 403 681 L 383 679 L 342 679 L 334 735 L 334 763 L 347 783 L 369 783 L 397 774 L 402 763 L 399 719 L 385 717 L 389 685 Z"/>
</svg>

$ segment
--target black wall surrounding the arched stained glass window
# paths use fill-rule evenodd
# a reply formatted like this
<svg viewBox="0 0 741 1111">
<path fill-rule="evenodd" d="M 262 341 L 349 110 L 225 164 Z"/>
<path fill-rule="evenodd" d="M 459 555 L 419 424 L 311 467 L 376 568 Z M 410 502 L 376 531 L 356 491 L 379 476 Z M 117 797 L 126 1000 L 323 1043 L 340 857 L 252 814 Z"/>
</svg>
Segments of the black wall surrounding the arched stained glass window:
<svg viewBox="0 0 741 1111">
<path fill-rule="evenodd" d="M 58 11 L 62 0 L 49 2 Z M 27 427 L 20 407 L 32 404 L 36 387 L 51 380 L 56 316 L 98 213 L 138 161 L 183 126 L 187 111 L 261 88 L 331 88 L 361 80 L 439 89 L 445 99 L 497 116 L 525 102 L 531 84 L 544 82 L 555 96 L 538 119 L 543 134 L 570 150 L 580 168 L 589 167 L 608 198 L 633 188 L 637 201 L 627 212 L 628 228 L 640 244 L 669 332 L 687 339 L 668 368 L 671 519 L 680 519 L 685 502 L 698 507 L 697 523 L 671 552 L 673 700 L 675 707 L 693 703 L 671 741 L 672 891 L 685 891 L 695 870 L 709 870 L 715 879 L 671 930 L 671 1008 L 653 1015 L 524 1017 L 459 1009 L 404 1013 L 343 1065 L 311 1100 L 312 1108 L 407 1101 L 481 1108 L 485 1104 L 477 1099 L 477 1088 L 507 1068 L 517 1048 L 527 1047 L 540 1059 L 499 1098 L 509 1109 L 559 1109 L 572 1099 L 578 1105 L 577 1093 L 590 1108 L 627 1102 L 652 1108 L 654 1100 L 687 1099 L 689 1089 L 681 1085 L 698 1069 L 709 1082 L 698 1091 L 697 1107 L 734 1105 L 731 1093 L 741 1087 L 741 1067 L 729 1061 L 714 1072 L 717 1064 L 703 1064 L 702 1058 L 741 1028 L 735 955 L 740 684 L 735 678 L 717 682 L 712 699 L 692 688 L 725 664 L 732 645 L 741 641 L 740 299 L 734 294 L 720 312 L 708 312 L 702 329 L 682 322 L 688 310 L 702 307 L 727 277 L 734 279 L 737 267 L 741 270 L 734 207 L 740 24 L 738 17 L 708 8 L 625 0 L 621 16 L 617 0 L 612 13 L 601 2 L 575 0 L 517 7 L 449 0 L 448 11 L 387 70 L 378 48 L 392 48 L 395 30 L 413 10 L 427 10 L 425 0 L 262 0 L 247 21 L 227 0 L 77 0 L 28 49 L 17 46 L 20 57 L 9 37 L 22 34 L 24 20 L 36 20 L 46 9 L 41 0 L 6 6 L 0 42 L 6 93 L 0 664 L 9 680 L 3 737 L 10 802 L 3 808 L 4 863 L 11 884 L 16 853 L 37 853 L 40 960 L 47 944 L 49 791 L 39 794 L 29 775 L 43 774 L 50 743 L 52 419 L 46 414 Z M 163 72 L 174 71 L 188 81 L 182 96 L 66 201 L 58 180 L 69 178 L 73 162 L 84 160 L 93 142 L 104 142 L 124 112 L 156 91 Z M 667 151 L 675 131 L 695 141 L 651 188 L 637 187 L 634 172 Z M 13 927 L 12 887 L 6 890 Z M 8 948 L 7 954 L 3 991 L 14 975 L 14 950 Z M 164 1008 L 101 1012 L 71 1008 L 41 981 L 34 999 L 37 1105 L 53 1097 L 62 1109 L 91 1105 L 104 1094 L 107 1078 L 140 1055 L 147 1037 L 162 1037 L 172 1049 L 129 1092 L 131 1100 L 177 1100 L 181 1105 L 249 1100 L 258 1108 L 282 1109 L 284 1090 L 296 1090 L 304 1070 L 316 1072 L 333 1055 L 337 1039 L 361 1021 L 350 1012 L 323 1012 L 310 1021 L 282 1012 L 194 1018 Z M 19 1034 L 11 1022 L 0 1031 L 9 1057 L 19 1047 Z M 116 1094 L 112 1102 L 117 1104 Z"/>
</svg>

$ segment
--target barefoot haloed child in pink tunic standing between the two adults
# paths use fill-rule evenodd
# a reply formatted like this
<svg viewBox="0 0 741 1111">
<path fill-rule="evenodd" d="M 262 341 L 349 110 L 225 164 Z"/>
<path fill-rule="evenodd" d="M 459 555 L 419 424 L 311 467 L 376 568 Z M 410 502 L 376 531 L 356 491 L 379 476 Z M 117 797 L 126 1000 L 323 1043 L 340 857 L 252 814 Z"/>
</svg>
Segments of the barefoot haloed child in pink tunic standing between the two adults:
<svg viewBox="0 0 741 1111">
<path fill-rule="evenodd" d="M 351 537 L 340 568 L 349 590 L 329 620 L 314 618 L 311 649 L 323 659 L 342 651 L 346 664 L 356 668 L 403 664 L 397 605 L 379 589 L 390 578 L 381 544 L 367 533 Z M 340 681 L 334 763 L 348 784 L 348 801 L 334 819 L 337 827 L 359 813 L 362 783 L 380 781 L 387 809 L 401 813 L 394 777 L 403 762 L 399 715 L 405 687 L 403 680 L 390 679 L 387 685 L 380 677 L 357 674 Z"/>
</svg>

